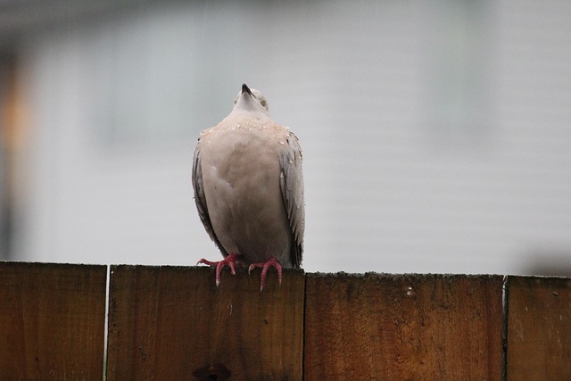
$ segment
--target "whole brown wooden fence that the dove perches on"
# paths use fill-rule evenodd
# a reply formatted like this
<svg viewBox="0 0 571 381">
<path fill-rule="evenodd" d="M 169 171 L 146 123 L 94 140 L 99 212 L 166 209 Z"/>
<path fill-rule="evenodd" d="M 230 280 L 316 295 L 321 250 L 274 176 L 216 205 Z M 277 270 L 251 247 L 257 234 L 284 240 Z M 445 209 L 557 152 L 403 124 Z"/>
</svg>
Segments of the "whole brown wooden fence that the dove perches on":
<svg viewBox="0 0 571 381">
<path fill-rule="evenodd" d="M 0 379 L 571 379 L 569 278 L 286 270 L 259 284 L 111 266 L 107 299 L 106 266 L 0 262 Z"/>
</svg>

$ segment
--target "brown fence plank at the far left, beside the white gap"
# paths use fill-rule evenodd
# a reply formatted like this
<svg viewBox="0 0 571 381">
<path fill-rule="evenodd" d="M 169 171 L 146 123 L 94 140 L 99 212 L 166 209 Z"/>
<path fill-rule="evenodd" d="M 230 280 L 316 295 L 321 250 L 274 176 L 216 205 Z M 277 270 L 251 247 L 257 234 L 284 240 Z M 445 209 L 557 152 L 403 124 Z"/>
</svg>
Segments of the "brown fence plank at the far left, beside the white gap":
<svg viewBox="0 0 571 381">
<path fill-rule="evenodd" d="M 106 277 L 106 266 L 0 262 L 0 379 L 102 379 Z"/>
</svg>

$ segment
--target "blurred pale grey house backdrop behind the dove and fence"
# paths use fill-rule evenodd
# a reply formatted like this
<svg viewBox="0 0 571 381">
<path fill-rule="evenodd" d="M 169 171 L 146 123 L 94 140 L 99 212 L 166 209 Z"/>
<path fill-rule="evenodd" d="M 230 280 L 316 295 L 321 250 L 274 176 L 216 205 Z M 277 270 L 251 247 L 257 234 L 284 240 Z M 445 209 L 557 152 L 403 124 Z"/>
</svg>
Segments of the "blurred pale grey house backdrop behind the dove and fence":
<svg viewBox="0 0 571 381">
<path fill-rule="evenodd" d="M 570 21 L 566 0 L 0 0 L 0 258 L 219 258 L 192 155 L 245 82 L 302 142 L 306 270 L 571 275 Z"/>
</svg>

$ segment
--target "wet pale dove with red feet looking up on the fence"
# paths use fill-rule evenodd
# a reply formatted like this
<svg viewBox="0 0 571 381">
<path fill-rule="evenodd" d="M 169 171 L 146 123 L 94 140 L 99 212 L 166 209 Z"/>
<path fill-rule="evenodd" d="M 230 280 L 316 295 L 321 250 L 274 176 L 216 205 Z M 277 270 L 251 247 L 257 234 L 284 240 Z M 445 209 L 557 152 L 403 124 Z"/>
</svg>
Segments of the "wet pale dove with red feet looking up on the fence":
<svg viewBox="0 0 571 381">
<path fill-rule="evenodd" d="M 302 265 L 305 204 L 302 148 L 290 128 L 269 117 L 260 91 L 242 85 L 232 112 L 201 132 L 194 148 L 194 203 L 223 259 L 203 263 L 220 272 L 236 263 L 261 268 L 261 291 L 270 268 Z"/>
</svg>

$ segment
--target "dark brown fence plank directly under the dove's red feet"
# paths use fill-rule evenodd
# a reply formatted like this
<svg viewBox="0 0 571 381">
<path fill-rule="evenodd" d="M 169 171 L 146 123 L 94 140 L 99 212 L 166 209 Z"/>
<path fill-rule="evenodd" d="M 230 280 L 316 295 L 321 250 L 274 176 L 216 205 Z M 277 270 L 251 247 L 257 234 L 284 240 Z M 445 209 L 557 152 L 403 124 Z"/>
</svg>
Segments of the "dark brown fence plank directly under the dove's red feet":
<svg viewBox="0 0 571 381">
<path fill-rule="evenodd" d="M 302 379 L 303 272 L 236 272 L 113 266 L 108 379 Z"/>
</svg>

